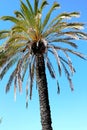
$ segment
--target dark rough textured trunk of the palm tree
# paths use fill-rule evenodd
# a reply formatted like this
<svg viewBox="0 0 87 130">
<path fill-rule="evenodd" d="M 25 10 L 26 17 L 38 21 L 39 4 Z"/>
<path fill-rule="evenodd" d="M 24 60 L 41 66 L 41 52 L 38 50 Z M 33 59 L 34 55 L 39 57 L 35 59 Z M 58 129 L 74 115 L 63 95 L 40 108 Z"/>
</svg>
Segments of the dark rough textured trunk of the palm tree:
<svg viewBox="0 0 87 130">
<path fill-rule="evenodd" d="M 44 56 L 36 56 L 36 80 L 38 85 L 42 130 L 52 130 Z"/>
</svg>

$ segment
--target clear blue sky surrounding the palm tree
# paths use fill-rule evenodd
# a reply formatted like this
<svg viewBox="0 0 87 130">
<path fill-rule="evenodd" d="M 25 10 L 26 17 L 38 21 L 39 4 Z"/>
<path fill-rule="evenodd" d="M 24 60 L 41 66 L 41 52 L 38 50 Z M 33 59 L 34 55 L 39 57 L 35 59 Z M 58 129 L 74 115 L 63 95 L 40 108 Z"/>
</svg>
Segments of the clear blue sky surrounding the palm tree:
<svg viewBox="0 0 87 130">
<path fill-rule="evenodd" d="M 52 4 L 52 0 L 48 1 Z M 59 12 L 79 11 L 81 17 L 76 20 L 87 23 L 87 0 L 56 1 L 61 4 Z M 16 9 L 19 9 L 19 0 L 0 0 L 0 16 L 13 15 Z M 10 26 L 9 22 L 0 21 L 0 30 Z M 78 44 L 79 50 L 87 54 L 87 42 L 78 41 Z M 87 61 L 76 57 L 72 59 L 77 70 L 73 76 L 74 92 L 70 91 L 68 82 L 63 76 L 60 79 L 61 93 L 57 95 L 56 81 L 47 75 L 54 130 L 87 130 Z M 25 86 L 22 95 L 17 92 L 16 102 L 13 87 L 8 94 L 5 94 L 8 75 L 0 81 L 0 116 L 3 117 L 0 130 L 41 130 L 38 92 L 35 86 L 32 101 L 29 101 L 29 107 L 26 109 Z"/>
</svg>

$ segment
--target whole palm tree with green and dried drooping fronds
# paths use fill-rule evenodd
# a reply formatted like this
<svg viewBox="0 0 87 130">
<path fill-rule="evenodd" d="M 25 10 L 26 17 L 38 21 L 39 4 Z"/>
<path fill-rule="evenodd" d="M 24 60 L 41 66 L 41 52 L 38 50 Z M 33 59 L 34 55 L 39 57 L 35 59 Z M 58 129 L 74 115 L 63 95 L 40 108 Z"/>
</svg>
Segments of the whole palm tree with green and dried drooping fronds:
<svg viewBox="0 0 87 130">
<path fill-rule="evenodd" d="M 6 93 L 14 83 L 14 96 L 16 90 L 22 92 L 22 83 L 26 73 L 26 107 L 28 106 L 28 97 L 32 98 L 33 81 L 36 78 L 36 84 L 39 93 L 40 114 L 42 130 L 52 130 L 51 112 L 48 98 L 48 87 L 45 69 L 48 68 L 52 78 L 56 79 L 58 92 L 60 92 L 59 82 L 53 67 L 49 53 L 54 55 L 58 74 L 61 76 L 64 69 L 69 81 L 71 90 L 73 84 L 71 75 L 75 72 L 69 54 L 76 55 L 82 59 L 84 55 L 75 51 L 77 44 L 75 40 L 87 40 L 87 34 L 81 31 L 83 23 L 68 22 L 67 19 L 78 17 L 78 12 L 64 12 L 50 19 L 52 12 L 60 5 L 54 2 L 42 18 L 43 10 L 48 5 L 47 0 L 34 0 L 34 8 L 29 0 L 26 4 L 21 3 L 21 10 L 15 11 L 15 17 L 3 16 L 2 20 L 9 20 L 13 23 L 9 30 L 0 31 L 0 39 L 5 39 L 4 44 L 0 45 L 0 79 L 6 72 L 14 66 L 6 85 Z"/>
</svg>

